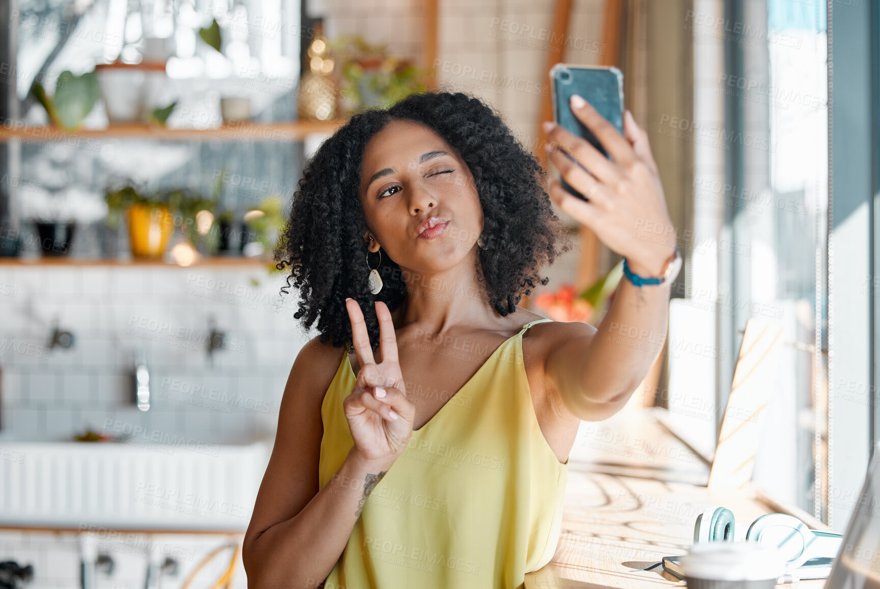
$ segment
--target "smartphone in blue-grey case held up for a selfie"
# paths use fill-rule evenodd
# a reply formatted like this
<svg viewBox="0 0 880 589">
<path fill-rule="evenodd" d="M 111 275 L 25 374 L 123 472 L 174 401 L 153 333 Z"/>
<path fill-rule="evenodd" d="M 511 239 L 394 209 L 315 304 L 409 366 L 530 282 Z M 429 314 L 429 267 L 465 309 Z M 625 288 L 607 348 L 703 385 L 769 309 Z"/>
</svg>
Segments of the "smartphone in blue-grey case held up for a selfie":
<svg viewBox="0 0 880 589">
<path fill-rule="evenodd" d="M 602 155 L 610 159 L 602 143 L 577 119 L 575 113 L 572 113 L 568 101 L 573 94 L 580 94 L 618 130 L 618 133 L 623 135 L 623 72 L 615 67 L 557 63 L 550 69 L 550 83 L 556 124 L 583 137 Z M 571 155 L 567 153 L 565 155 L 577 165 L 581 165 Z M 566 184 L 565 180 L 562 180 L 562 186 L 577 198 L 590 200 Z"/>
</svg>

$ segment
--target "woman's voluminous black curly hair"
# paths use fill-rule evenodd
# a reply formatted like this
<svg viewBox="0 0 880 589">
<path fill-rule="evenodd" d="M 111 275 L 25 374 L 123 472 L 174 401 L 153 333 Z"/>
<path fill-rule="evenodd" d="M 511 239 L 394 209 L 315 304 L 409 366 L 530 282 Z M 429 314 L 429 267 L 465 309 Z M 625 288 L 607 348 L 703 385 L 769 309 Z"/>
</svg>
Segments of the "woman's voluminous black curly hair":
<svg viewBox="0 0 880 589">
<path fill-rule="evenodd" d="M 498 114 L 479 98 L 461 92 L 412 94 L 386 110 L 357 113 L 321 144 L 305 166 L 293 195 L 290 217 L 275 251 L 277 267 L 290 266 L 287 286 L 300 293 L 294 318 L 305 329 L 318 321 L 319 339 L 350 345 L 345 299 L 363 310 L 373 350 L 379 328 L 374 301 L 394 310 L 407 297 L 400 267 L 384 254 L 378 272 L 384 287 L 370 293 L 366 264 L 368 230 L 359 185 L 363 151 L 391 120 L 412 120 L 433 129 L 458 151 L 473 175 L 483 210 L 483 243 L 477 248 L 477 280 L 499 316 L 516 311 L 530 295 L 544 265 L 571 249 L 568 232 L 554 215 L 544 185 L 546 172 Z M 383 252 L 384 253 L 384 252 Z"/>
</svg>

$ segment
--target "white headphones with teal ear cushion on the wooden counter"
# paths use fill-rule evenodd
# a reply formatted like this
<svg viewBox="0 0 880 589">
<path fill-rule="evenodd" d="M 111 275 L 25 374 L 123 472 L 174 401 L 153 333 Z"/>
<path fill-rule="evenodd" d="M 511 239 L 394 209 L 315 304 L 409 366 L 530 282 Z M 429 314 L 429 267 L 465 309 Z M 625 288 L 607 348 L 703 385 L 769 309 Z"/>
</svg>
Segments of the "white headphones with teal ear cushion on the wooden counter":
<svg viewBox="0 0 880 589">
<path fill-rule="evenodd" d="M 735 523 L 730 509 L 710 508 L 697 516 L 693 525 L 693 543 L 733 542 Z M 843 534 L 812 530 L 803 521 L 786 513 L 769 513 L 752 522 L 745 539 L 779 550 L 790 570 L 810 558 L 837 556 Z"/>
</svg>

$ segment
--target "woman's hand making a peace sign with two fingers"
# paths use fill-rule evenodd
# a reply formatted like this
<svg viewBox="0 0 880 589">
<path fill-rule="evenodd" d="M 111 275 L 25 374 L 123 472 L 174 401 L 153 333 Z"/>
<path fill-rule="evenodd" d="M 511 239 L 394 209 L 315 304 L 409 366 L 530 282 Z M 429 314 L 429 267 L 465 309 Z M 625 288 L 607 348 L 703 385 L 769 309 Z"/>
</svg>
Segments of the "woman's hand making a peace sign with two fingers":
<svg viewBox="0 0 880 589">
<path fill-rule="evenodd" d="M 355 386 L 342 401 L 348 429 L 355 441 L 352 451 L 364 460 L 391 466 L 413 437 L 415 418 L 415 405 L 407 399 L 400 374 L 391 312 L 384 302 L 376 302 L 382 353 L 382 363 L 377 364 L 360 306 L 354 299 L 346 299 L 345 306 L 360 364 Z"/>
</svg>

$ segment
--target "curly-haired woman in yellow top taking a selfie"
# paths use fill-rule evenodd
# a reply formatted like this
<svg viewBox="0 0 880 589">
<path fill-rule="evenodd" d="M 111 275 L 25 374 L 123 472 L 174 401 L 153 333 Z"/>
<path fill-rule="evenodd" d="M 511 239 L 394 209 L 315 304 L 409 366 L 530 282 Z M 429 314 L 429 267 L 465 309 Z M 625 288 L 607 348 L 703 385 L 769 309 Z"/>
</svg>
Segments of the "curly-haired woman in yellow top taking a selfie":
<svg viewBox="0 0 880 589">
<path fill-rule="evenodd" d="M 320 335 L 284 390 L 251 589 L 520 587 L 554 555 L 578 425 L 648 373 L 680 265 L 647 135 L 578 98 L 612 160 L 552 123 L 547 151 L 589 201 L 555 180 L 548 199 L 537 158 L 461 93 L 357 114 L 312 157 L 279 259 Z M 627 258 L 598 328 L 517 307 L 571 247 L 550 199 Z"/>
</svg>

